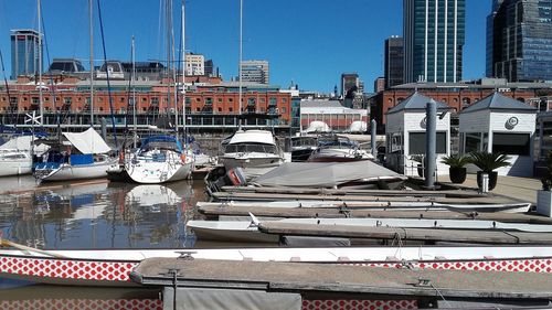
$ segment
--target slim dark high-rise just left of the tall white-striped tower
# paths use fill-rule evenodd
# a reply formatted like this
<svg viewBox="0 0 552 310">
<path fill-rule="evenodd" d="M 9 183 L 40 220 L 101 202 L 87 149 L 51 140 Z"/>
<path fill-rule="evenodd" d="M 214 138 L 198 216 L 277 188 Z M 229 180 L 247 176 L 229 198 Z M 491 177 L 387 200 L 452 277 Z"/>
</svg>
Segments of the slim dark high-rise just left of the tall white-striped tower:
<svg viewBox="0 0 552 310">
<path fill-rule="evenodd" d="M 384 73 L 385 88 L 393 87 L 395 85 L 403 84 L 403 61 L 404 61 L 404 49 L 403 39 L 397 35 L 393 35 L 385 40 L 385 56 L 384 56 Z M 376 90 L 379 92 L 379 90 Z"/>
</svg>

